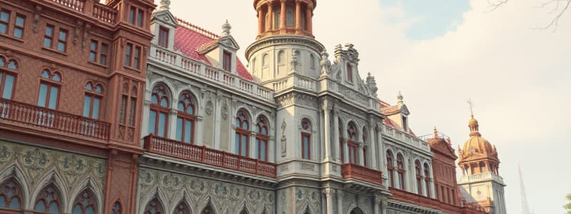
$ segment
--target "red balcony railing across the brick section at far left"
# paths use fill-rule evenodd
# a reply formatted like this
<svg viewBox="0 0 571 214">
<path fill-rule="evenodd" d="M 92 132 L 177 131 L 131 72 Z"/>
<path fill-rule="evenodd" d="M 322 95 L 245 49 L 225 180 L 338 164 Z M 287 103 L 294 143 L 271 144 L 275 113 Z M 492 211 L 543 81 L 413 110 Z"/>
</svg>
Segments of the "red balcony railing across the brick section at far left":
<svg viewBox="0 0 571 214">
<path fill-rule="evenodd" d="M 0 123 L 25 125 L 108 141 L 111 124 L 0 98 Z"/>
</svg>

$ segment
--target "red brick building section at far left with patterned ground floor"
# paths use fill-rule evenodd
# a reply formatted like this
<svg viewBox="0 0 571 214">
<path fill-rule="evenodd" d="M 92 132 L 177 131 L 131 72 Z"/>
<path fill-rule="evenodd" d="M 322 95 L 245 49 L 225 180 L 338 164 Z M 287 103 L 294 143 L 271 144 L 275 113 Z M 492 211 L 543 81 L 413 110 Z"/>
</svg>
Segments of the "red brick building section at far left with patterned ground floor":
<svg viewBox="0 0 571 214">
<path fill-rule="evenodd" d="M 133 213 L 154 8 L 0 2 L 0 213 Z"/>
</svg>

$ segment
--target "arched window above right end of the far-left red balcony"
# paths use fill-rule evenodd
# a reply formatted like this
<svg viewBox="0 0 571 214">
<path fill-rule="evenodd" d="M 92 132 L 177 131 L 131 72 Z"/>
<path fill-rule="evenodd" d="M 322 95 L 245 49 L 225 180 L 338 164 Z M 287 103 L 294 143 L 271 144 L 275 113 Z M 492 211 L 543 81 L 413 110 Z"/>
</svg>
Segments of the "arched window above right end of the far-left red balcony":
<svg viewBox="0 0 571 214">
<path fill-rule="evenodd" d="M 85 86 L 84 113 L 86 118 L 99 119 L 101 100 L 103 99 L 103 86 L 101 83 L 89 81 Z"/>
</svg>

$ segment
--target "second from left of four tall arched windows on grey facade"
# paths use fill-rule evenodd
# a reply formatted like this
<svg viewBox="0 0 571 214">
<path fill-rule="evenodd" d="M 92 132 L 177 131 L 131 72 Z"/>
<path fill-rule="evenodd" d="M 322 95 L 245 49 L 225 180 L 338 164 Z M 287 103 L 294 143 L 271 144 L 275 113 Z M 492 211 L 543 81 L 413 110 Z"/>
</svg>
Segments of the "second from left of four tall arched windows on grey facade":
<svg viewBox="0 0 571 214">
<path fill-rule="evenodd" d="M 194 143 L 195 102 L 190 93 L 181 93 L 178 96 L 178 110 L 176 114 L 176 141 Z"/>
</svg>

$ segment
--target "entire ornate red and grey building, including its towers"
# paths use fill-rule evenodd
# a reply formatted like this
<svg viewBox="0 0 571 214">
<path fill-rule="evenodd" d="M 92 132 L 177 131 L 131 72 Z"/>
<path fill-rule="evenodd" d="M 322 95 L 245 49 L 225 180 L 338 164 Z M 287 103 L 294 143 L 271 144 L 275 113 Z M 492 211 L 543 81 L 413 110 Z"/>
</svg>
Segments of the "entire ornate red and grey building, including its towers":
<svg viewBox="0 0 571 214">
<path fill-rule="evenodd" d="M 169 5 L 0 4 L 1 213 L 505 213 L 502 188 L 474 195 L 501 181 L 495 149 L 470 138 L 460 167 L 489 170 L 459 188 L 450 139 L 315 40 L 316 0 L 254 1 L 247 66 L 228 22 Z"/>
</svg>

